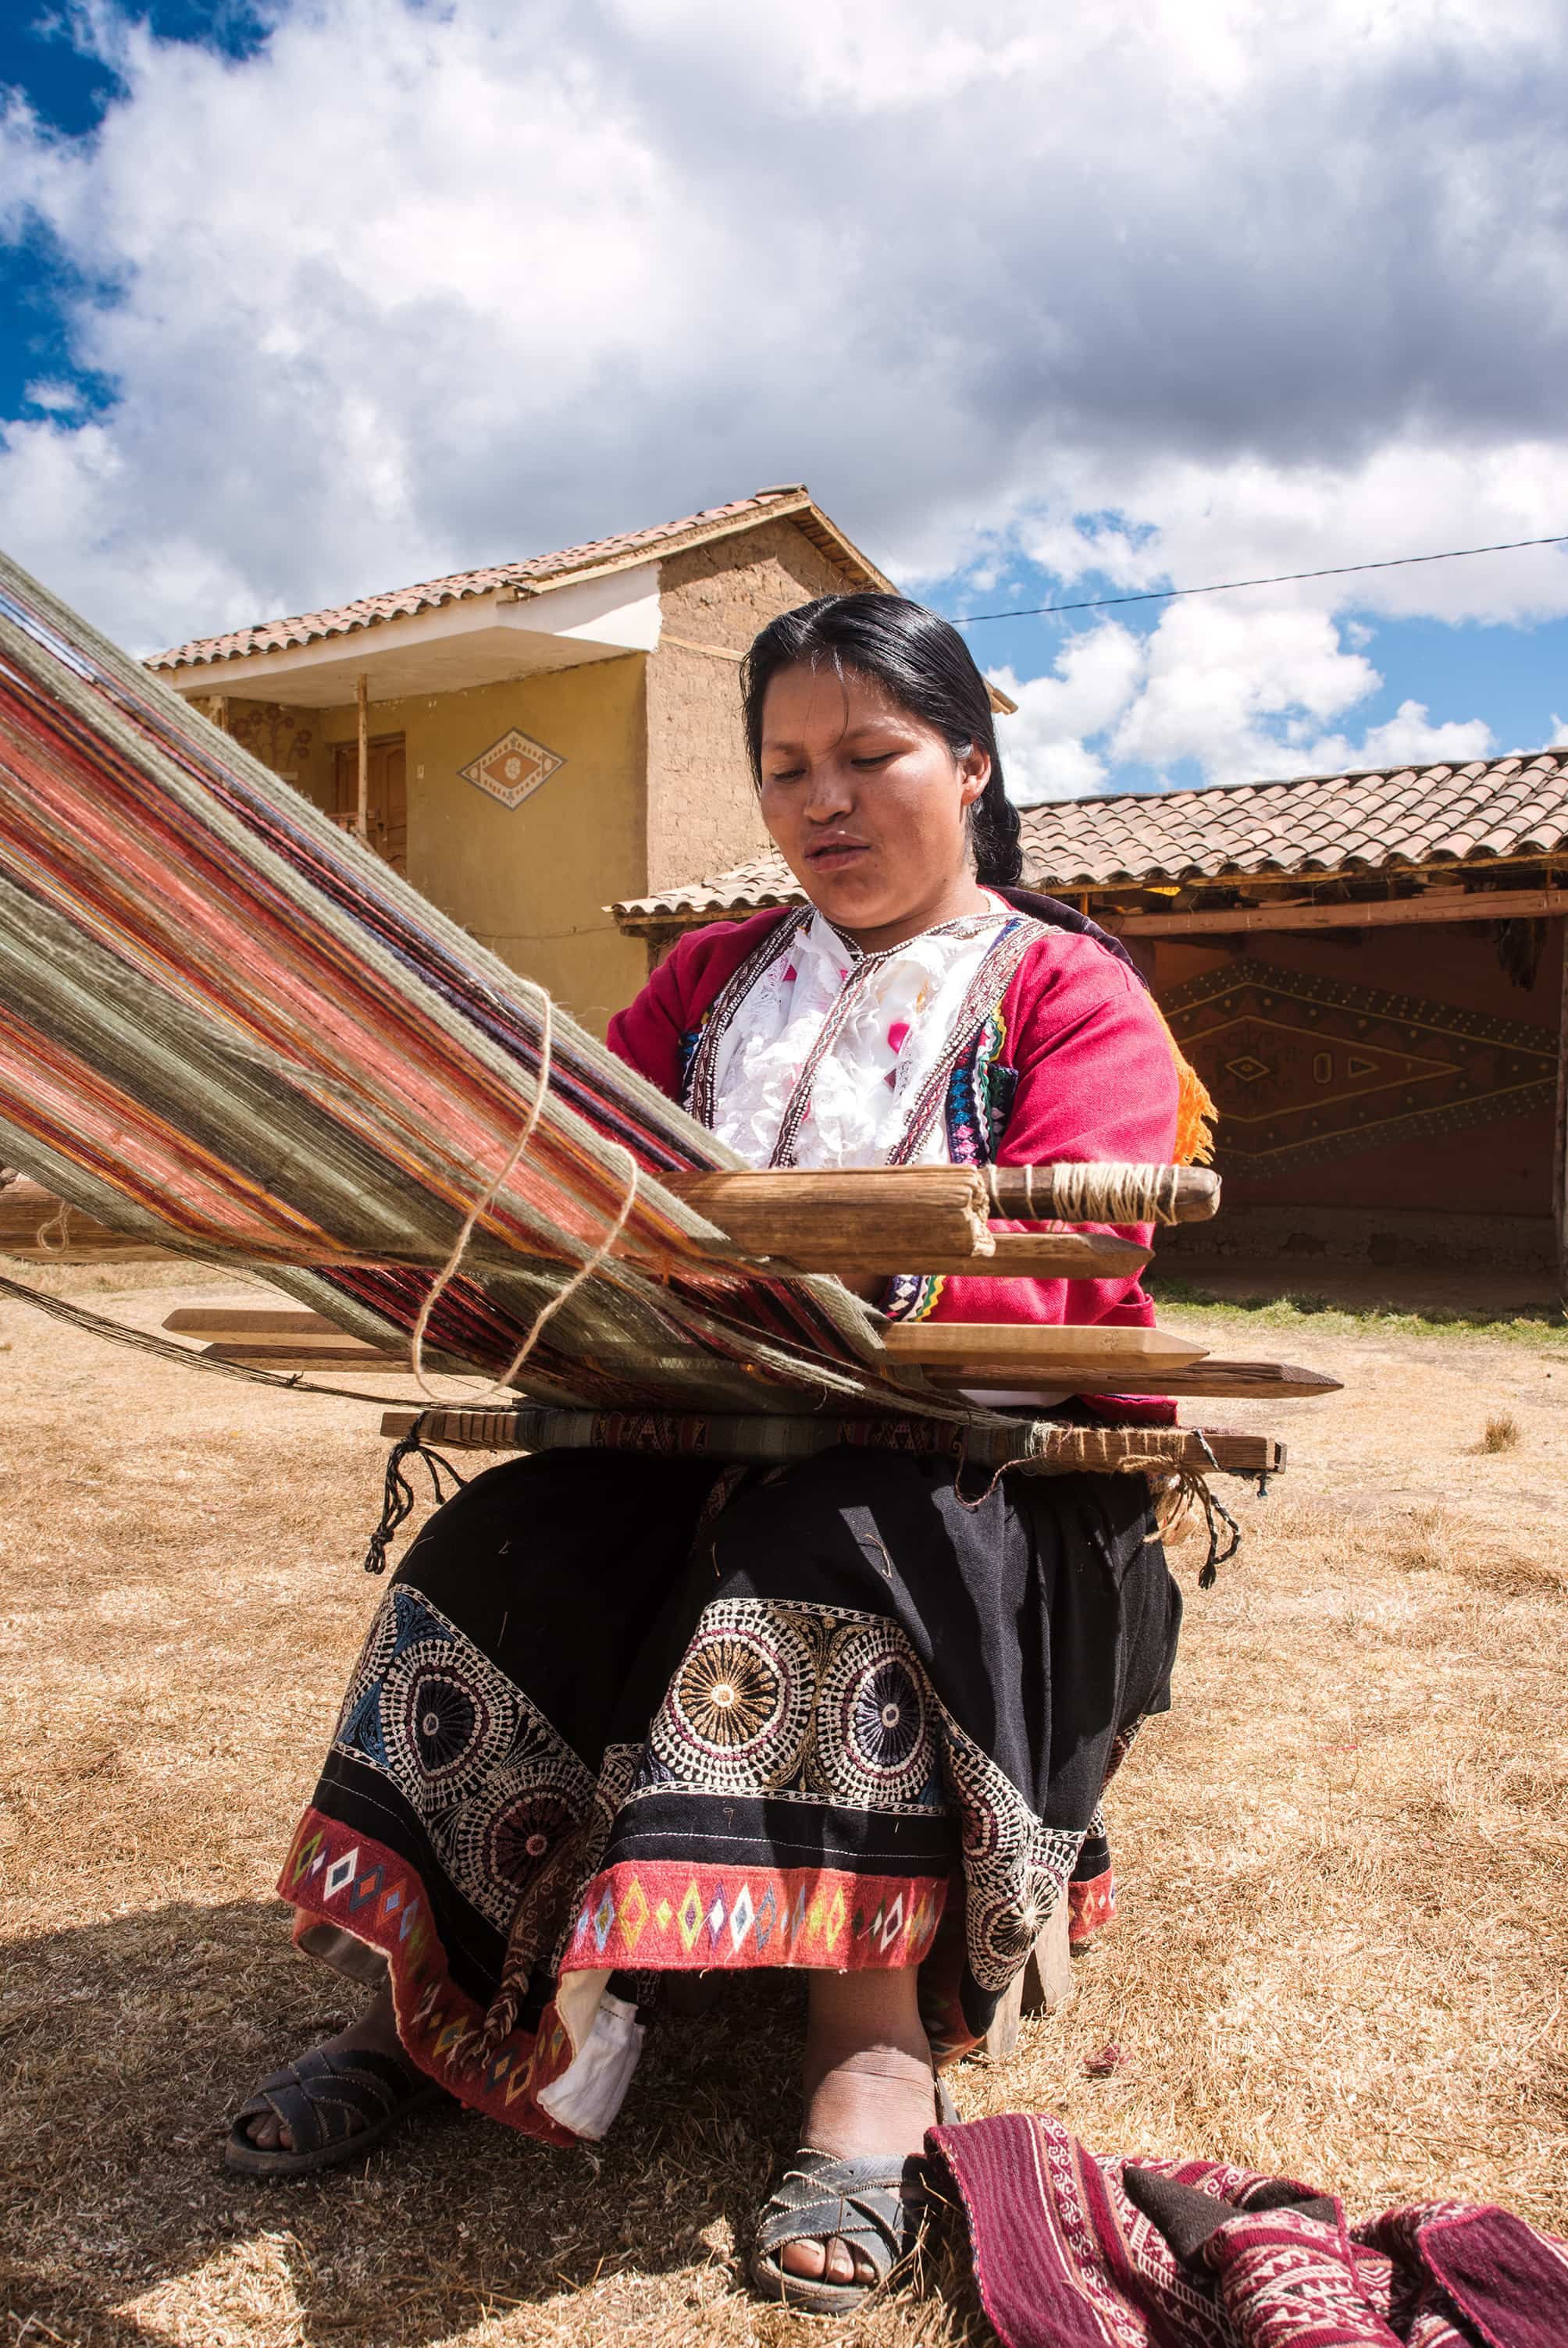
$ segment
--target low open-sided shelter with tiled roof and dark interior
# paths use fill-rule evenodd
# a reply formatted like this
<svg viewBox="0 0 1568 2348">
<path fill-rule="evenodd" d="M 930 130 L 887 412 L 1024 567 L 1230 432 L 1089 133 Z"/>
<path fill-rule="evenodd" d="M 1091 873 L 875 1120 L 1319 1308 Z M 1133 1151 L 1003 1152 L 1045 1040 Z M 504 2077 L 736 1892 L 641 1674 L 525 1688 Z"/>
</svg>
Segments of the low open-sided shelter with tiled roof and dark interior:
<svg viewBox="0 0 1568 2348">
<path fill-rule="evenodd" d="M 1190 1249 L 1568 1287 L 1568 749 L 1108 794 L 1023 815 L 1026 880 L 1127 939 L 1209 1085 Z M 777 857 L 622 899 L 660 953 L 793 904 Z"/>
</svg>

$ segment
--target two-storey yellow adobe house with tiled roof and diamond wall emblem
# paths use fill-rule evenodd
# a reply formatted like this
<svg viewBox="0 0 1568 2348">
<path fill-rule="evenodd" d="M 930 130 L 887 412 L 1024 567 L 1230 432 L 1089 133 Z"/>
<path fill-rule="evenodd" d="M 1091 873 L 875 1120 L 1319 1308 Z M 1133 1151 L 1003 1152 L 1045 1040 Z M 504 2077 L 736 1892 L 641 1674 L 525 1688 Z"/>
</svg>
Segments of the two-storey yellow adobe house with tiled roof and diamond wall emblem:
<svg viewBox="0 0 1568 2348">
<path fill-rule="evenodd" d="M 268 620 L 148 667 L 584 1024 L 646 977 L 610 918 L 758 855 L 737 660 L 890 589 L 803 486 Z"/>
</svg>

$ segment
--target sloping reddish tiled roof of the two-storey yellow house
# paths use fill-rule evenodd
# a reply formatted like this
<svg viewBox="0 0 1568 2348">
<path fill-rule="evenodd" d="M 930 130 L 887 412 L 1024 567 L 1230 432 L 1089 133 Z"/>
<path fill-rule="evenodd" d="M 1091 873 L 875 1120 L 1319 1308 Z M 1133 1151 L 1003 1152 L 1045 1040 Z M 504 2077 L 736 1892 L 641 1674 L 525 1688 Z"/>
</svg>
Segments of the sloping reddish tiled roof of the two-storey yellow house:
<svg viewBox="0 0 1568 2348">
<path fill-rule="evenodd" d="M 493 594 L 512 587 L 521 594 L 554 587 L 582 571 L 627 571 L 631 564 L 650 561 L 660 554 L 678 554 L 699 547 L 709 538 L 728 538 L 758 521 L 793 519 L 796 526 L 864 587 L 887 587 L 890 580 L 850 545 L 850 540 L 815 505 L 803 481 L 784 488 L 758 488 L 751 498 L 735 498 L 732 505 L 709 505 L 702 514 L 685 514 L 681 521 L 662 521 L 650 531 L 620 531 L 615 538 L 594 538 L 584 547 L 561 547 L 556 554 L 530 554 L 521 564 L 493 564 L 488 571 L 453 571 L 444 580 L 423 580 L 418 587 L 399 587 L 392 594 L 366 594 L 354 603 L 338 603 L 331 610 L 305 610 L 291 620 L 261 620 L 256 627 L 235 627 L 228 636 L 197 636 L 176 643 L 169 653 L 153 653 L 150 669 L 207 667 L 216 660 L 246 660 L 254 653 L 286 653 L 300 643 L 319 643 L 324 636 L 352 636 L 354 629 L 376 627 L 378 620 L 404 620 L 415 610 L 434 610 L 441 603 L 462 603 L 469 596 Z"/>
</svg>

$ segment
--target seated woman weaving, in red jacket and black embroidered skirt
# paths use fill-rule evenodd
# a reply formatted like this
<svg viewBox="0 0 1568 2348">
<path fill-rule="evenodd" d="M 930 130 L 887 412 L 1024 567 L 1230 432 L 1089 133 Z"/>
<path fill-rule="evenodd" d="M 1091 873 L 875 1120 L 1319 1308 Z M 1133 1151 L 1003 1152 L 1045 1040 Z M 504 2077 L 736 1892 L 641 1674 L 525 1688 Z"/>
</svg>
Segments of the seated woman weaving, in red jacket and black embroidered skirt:
<svg viewBox="0 0 1568 2348">
<path fill-rule="evenodd" d="M 986 683 L 944 620 L 829 596 L 744 667 L 761 810 L 810 906 L 683 939 L 610 1045 L 751 1165 L 1169 1160 L 1181 1061 L 1080 916 L 1009 885 Z M 1145 1324 L 1136 1280 L 876 1284 L 897 1317 Z M 1169 1416 L 1169 1406 L 1143 1404 Z M 631 2078 L 648 1975 L 810 1972 L 803 2151 L 753 2280 L 854 2306 L 908 2249 L 932 2064 L 986 2031 L 1169 1702 L 1141 1477 L 955 1486 L 547 1453 L 411 1545 L 282 1890 L 376 1989 L 244 2106 L 235 2167 L 357 2158 L 437 2092 L 556 2141 Z"/>
</svg>

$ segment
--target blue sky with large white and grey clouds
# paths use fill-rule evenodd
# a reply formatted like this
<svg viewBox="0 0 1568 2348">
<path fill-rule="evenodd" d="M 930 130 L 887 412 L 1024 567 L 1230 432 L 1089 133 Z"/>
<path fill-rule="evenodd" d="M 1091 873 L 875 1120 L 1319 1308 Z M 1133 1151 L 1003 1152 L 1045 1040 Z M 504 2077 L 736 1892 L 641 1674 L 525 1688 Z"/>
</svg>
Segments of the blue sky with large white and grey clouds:
<svg viewBox="0 0 1568 2348">
<path fill-rule="evenodd" d="M 1568 531 L 1554 0 L 14 0 L 0 538 L 146 650 L 807 479 L 953 615 Z M 1537 747 L 1568 554 L 969 632 L 1021 796 Z"/>
</svg>

